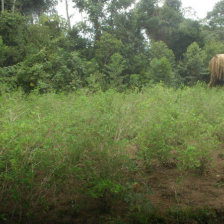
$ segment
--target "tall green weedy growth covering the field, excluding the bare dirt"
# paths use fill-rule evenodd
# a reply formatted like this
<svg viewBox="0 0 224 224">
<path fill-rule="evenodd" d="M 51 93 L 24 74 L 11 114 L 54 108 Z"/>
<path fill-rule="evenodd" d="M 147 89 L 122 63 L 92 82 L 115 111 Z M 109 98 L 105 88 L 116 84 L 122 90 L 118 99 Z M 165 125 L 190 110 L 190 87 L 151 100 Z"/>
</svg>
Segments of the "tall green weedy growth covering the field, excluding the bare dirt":
<svg viewBox="0 0 224 224">
<path fill-rule="evenodd" d="M 46 218 L 63 206 L 74 216 L 113 212 L 153 161 L 203 173 L 224 140 L 223 111 L 223 89 L 202 85 L 2 93 L 0 219 Z"/>
</svg>

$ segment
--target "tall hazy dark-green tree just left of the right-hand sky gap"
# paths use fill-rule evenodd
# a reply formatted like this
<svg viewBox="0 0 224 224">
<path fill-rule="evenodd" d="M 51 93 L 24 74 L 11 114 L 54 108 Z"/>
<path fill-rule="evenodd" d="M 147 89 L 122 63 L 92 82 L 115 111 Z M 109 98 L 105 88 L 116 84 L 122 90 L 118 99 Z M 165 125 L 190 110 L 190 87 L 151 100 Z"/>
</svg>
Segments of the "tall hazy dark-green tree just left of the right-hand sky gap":
<svg viewBox="0 0 224 224">
<path fill-rule="evenodd" d="M 141 29 L 150 40 L 166 43 L 177 60 L 194 41 L 203 45 L 200 23 L 184 18 L 180 0 L 165 0 L 161 7 L 155 0 L 141 0 L 137 9 Z"/>
</svg>

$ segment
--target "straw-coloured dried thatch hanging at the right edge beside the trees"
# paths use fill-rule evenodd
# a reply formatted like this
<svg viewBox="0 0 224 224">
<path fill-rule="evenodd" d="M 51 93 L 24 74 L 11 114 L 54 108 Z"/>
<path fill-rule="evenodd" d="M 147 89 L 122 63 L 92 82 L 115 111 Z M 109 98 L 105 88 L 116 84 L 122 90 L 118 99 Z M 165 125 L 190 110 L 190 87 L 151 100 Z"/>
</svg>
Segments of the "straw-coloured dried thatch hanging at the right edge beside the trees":
<svg viewBox="0 0 224 224">
<path fill-rule="evenodd" d="M 216 54 L 209 62 L 210 82 L 213 87 L 217 81 L 224 81 L 224 54 Z"/>
</svg>

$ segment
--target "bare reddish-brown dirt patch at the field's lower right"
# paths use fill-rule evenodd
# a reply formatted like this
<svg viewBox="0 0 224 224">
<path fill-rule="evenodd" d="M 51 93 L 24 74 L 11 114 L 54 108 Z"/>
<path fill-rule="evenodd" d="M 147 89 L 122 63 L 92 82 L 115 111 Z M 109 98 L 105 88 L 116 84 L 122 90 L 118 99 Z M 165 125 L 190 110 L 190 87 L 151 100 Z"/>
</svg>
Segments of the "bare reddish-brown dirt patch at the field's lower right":
<svg viewBox="0 0 224 224">
<path fill-rule="evenodd" d="M 159 210 L 224 209 L 224 150 L 214 152 L 213 167 L 204 175 L 154 165 L 146 176 L 144 182 L 152 190 L 149 200 Z"/>
</svg>

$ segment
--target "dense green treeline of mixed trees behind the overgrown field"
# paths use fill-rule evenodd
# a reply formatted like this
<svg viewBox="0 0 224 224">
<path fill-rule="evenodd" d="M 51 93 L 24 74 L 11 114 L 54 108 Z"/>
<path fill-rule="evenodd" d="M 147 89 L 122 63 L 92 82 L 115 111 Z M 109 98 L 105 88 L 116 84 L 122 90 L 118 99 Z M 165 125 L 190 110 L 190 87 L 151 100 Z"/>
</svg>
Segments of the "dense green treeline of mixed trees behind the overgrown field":
<svg viewBox="0 0 224 224">
<path fill-rule="evenodd" d="M 1 3 L 0 83 L 9 90 L 194 85 L 224 53 L 223 0 L 202 21 L 186 18 L 180 0 L 73 0 L 87 15 L 73 27 L 56 0 Z"/>
</svg>

